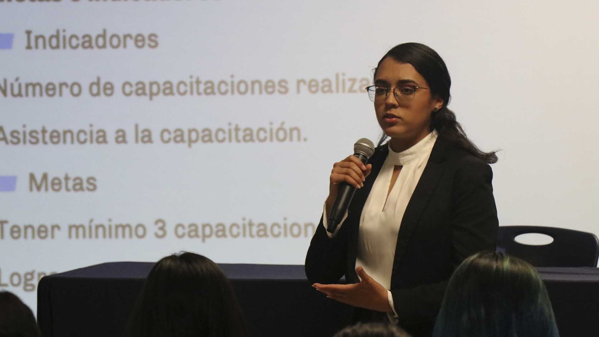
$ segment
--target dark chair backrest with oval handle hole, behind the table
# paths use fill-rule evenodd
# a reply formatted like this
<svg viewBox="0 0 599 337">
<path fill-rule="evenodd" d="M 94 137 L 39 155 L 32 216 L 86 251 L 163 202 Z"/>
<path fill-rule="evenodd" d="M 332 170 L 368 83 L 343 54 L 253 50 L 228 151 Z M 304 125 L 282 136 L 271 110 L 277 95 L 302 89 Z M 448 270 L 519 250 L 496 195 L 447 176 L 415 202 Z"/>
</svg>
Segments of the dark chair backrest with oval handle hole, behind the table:
<svg viewBox="0 0 599 337">
<path fill-rule="evenodd" d="M 541 233 L 553 237 L 547 245 L 524 245 L 520 234 Z M 497 251 L 522 258 L 536 267 L 597 267 L 599 240 L 593 233 L 541 226 L 500 226 Z"/>
</svg>

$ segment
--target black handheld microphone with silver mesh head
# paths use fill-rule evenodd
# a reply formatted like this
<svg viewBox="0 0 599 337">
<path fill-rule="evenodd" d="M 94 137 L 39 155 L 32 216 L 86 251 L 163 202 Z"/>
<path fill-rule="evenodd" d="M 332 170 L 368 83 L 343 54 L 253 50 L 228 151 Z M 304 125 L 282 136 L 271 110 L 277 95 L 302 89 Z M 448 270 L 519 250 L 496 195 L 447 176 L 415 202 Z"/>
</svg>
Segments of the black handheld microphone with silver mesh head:
<svg viewBox="0 0 599 337">
<path fill-rule="evenodd" d="M 374 144 L 370 139 L 361 138 L 356 140 L 356 143 L 353 145 L 353 155 L 358 157 L 364 165 L 368 163 L 373 154 Z M 349 203 L 352 201 L 354 192 L 356 192 L 356 188 L 349 185 L 349 183 L 342 182 L 339 184 L 337 198 L 335 198 L 335 203 L 331 208 L 331 214 L 329 214 L 326 226 L 326 230 L 329 233 L 334 233 L 335 229 L 337 229 L 337 225 L 339 225 L 339 222 L 341 222 L 341 219 L 343 219 L 343 216 L 347 212 L 347 207 L 349 207 Z"/>
</svg>

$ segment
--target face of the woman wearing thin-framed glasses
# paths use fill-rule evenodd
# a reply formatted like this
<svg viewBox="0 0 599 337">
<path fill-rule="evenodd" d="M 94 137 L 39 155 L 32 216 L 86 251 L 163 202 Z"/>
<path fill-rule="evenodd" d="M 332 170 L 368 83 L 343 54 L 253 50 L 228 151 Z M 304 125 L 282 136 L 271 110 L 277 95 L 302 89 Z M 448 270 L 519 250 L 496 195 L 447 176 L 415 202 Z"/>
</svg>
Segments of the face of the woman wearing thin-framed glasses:
<svg viewBox="0 0 599 337">
<path fill-rule="evenodd" d="M 376 72 L 374 85 L 394 88 L 397 85 L 412 85 L 429 88 L 428 83 L 413 65 L 395 61 L 391 57 L 383 59 Z M 428 89 L 416 89 L 413 100 L 400 102 L 392 91 L 385 100 L 375 101 L 374 110 L 380 127 L 385 134 L 404 145 L 414 145 L 428 135 L 431 130 L 431 113 L 436 107 L 441 109 L 443 100 L 432 98 Z"/>
</svg>

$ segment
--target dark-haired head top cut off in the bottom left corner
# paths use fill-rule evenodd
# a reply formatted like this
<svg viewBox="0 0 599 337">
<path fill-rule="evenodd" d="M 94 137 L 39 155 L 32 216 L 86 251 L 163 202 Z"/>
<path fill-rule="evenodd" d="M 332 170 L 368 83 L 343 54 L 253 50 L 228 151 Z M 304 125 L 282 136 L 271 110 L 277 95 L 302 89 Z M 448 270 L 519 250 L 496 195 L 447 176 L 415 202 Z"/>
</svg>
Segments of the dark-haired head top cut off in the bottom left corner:
<svg viewBox="0 0 599 337">
<path fill-rule="evenodd" d="M 10 291 L 0 291 L 0 336 L 40 337 L 34 313 Z"/>
</svg>

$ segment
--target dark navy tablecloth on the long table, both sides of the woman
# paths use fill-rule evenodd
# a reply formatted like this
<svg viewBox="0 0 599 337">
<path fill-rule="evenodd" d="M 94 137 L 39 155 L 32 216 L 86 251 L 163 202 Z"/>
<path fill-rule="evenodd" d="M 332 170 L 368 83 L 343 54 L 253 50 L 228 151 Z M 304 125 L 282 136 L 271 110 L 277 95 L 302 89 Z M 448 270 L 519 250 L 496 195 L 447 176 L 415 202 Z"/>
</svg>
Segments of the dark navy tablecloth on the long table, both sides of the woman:
<svg viewBox="0 0 599 337">
<path fill-rule="evenodd" d="M 113 262 L 45 276 L 38 286 L 44 337 L 119 336 L 154 263 Z M 352 308 L 326 299 L 304 266 L 220 264 L 252 336 L 332 336 Z M 539 267 L 562 337 L 597 336 L 599 269 Z"/>
</svg>

